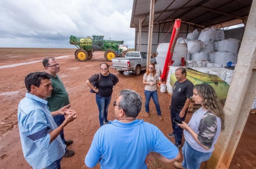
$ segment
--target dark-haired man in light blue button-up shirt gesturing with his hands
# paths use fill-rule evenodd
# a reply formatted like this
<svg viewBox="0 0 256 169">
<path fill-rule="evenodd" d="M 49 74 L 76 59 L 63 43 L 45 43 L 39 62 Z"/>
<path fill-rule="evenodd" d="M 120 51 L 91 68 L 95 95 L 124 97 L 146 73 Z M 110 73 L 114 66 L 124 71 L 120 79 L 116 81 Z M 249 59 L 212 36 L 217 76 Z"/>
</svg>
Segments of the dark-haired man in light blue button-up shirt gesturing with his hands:
<svg viewBox="0 0 256 169">
<path fill-rule="evenodd" d="M 59 133 L 76 119 L 76 112 L 68 110 L 69 105 L 55 112 L 49 111 L 47 101 L 44 100 L 52 91 L 47 73 L 28 74 L 25 85 L 28 92 L 18 106 L 19 134 L 24 157 L 34 169 L 60 169 L 66 145 Z M 59 127 L 53 120 L 53 116 L 58 114 L 66 116 Z"/>
</svg>

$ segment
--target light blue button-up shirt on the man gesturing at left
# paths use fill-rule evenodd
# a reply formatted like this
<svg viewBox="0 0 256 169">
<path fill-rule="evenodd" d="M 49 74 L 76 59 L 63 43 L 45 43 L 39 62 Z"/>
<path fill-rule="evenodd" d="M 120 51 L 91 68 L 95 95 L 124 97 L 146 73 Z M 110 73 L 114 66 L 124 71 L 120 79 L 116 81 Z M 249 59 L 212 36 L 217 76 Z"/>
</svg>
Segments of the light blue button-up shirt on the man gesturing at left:
<svg viewBox="0 0 256 169">
<path fill-rule="evenodd" d="M 66 145 L 60 135 L 50 143 L 50 132 L 57 128 L 47 101 L 26 93 L 18 106 L 20 141 L 24 157 L 34 169 L 42 169 L 60 159 Z"/>
</svg>

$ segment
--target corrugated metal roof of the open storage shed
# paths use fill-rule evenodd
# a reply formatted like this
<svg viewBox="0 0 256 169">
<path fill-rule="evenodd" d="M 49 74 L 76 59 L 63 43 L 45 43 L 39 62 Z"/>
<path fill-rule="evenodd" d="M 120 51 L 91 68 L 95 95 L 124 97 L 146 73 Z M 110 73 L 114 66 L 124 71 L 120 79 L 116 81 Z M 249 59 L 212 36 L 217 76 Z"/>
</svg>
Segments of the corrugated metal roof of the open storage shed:
<svg viewBox="0 0 256 169">
<path fill-rule="evenodd" d="M 181 19 L 200 28 L 241 24 L 248 18 L 253 0 L 155 0 L 154 24 Z M 148 26 L 149 0 L 134 0 L 130 27 Z M 222 26 L 221 26 L 222 25 Z"/>
</svg>

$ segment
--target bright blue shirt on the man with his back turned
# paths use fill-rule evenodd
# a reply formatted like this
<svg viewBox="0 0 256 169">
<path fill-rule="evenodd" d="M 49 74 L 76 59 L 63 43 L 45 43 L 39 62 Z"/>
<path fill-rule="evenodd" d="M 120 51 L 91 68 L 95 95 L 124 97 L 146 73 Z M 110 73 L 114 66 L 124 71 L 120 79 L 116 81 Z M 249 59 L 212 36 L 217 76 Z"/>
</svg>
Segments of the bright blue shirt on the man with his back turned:
<svg viewBox="0 0 256 169">
<path fill-rule="evenodd" d="M 114 120 L 94 135 L 85 164 L 92 168 L 100 160 L 101 169 L 146 169 L 145 159 L 151 151 L 167 159 L 173 159 L 179 153 L 155 125 L 138 119 L 131 123 Z"/>
</svg>

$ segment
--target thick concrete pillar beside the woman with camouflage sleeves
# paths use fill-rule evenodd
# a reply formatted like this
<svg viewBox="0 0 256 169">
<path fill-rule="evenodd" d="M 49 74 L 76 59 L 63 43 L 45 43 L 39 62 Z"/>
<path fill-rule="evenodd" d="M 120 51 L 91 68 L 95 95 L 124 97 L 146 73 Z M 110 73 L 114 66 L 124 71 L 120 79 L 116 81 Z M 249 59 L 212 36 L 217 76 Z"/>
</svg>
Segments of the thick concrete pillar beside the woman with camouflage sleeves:
<svg viewBox="0 0 256 169">
<path fill-rule="evenodd" d="M 225 130 L 215 145 L 206 169 L 228 169 L 256 95 L 256 0 L 253 0 L 238 62 L 224 106 Z"/>
</svg>

